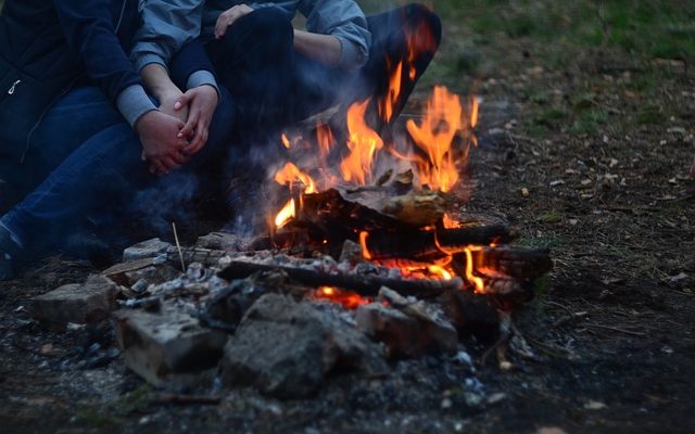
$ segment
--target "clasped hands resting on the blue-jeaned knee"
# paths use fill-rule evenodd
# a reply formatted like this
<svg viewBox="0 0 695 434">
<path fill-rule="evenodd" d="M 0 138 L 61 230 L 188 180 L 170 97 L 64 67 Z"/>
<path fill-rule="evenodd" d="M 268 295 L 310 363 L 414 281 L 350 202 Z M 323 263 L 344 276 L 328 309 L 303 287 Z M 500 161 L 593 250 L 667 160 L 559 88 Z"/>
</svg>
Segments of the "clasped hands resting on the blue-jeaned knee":
<svg viewBox="0 0 695 434">
<path fill-rule="evenodd" d="M 203 149 L 217 102 L 217 90 L 212 86 L 199 86 L 185 93 L 176 89 L 160 99 L 159 111 L 138 119 L 141 157 L 150 162 L 150 173 L 166 175 Z"/>
</svg>

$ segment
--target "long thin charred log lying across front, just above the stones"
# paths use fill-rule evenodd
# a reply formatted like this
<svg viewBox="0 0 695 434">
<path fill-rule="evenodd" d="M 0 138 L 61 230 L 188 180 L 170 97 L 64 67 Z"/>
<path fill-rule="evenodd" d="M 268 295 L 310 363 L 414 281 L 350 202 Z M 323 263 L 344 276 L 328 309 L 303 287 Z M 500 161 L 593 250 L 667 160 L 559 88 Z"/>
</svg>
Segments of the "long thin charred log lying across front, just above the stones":
<svg viewBox="0 0 695 434">
<path fill-rule="evenodd" d="M 337 286 L 354 291 L 359 295 L 374 296 L 381 286 L 403 295 L 418 297 L 437 296 L 444 291 L 459 291 L 464 288 L 460 278 L 451 280 L 432 279 L 391 279 L 379 276 L 334 275 L 306 268 L 288 267 L 281 265 L 257 264 L 244 260 L 231 263 L 217 273 L 225 280 L 245 279 L 256 271 L 285 271 L 291 278 L 309 286 Z"/>
</svg>

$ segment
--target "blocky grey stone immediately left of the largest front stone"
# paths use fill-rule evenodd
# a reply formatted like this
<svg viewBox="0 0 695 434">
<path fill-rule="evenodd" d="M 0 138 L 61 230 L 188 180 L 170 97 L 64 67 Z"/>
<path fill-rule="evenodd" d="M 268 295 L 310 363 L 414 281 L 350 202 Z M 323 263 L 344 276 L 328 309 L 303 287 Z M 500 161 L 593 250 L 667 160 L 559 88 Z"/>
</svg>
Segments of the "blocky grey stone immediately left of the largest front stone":
<svg viewBox="0 0 695 434">
<path fill-rule="evenodd" d="M 227 334 L 200 326 L 180 307 L 159 312 L 117 310 L 116 339 L 126 366 L 155 386 L 197 383 L 223 355 Z"/>
</svg>

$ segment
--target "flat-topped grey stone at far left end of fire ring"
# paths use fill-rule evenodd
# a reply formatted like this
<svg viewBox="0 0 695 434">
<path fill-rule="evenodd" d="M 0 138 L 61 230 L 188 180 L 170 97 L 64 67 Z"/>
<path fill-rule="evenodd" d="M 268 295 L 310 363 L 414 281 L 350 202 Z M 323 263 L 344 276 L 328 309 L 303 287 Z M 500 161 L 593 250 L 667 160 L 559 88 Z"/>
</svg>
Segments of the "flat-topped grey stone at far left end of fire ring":
<svg viewBox="0 0 695 434">
<path fill-rule="evenodd" d="M 34 298 L 36 319 L 52 328 L 64 329 L 68 322 L 94 323 L 109 317 L 116 306 L 116 284 L 92 275 L 85 283 L 60 286 Z"/>
</svg>

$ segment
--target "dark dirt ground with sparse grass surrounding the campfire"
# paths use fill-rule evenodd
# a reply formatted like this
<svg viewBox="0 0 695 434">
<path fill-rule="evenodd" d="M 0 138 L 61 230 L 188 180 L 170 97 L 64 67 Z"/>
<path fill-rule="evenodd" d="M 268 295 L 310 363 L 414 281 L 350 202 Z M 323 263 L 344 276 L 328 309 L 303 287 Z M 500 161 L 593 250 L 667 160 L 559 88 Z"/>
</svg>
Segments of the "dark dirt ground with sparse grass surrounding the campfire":
<svg viewBox="0 0 695 434">
<path fill-rule="evenodd" d="M 108 331 L 30 321 L 31 296 L 93 271 L 59 257 L 0 284 L 0 431 L 695 431 L 693 7 L 662 23 L 679 39 L 628 7 L 644 2 L 434 3 L 445 43 L 408 110 L 434 82 L 482 98 L 466 208 L 503 216 L 555 263 L 515 318 L 535 360 L 503 370 L 471 345 L 475 372 L 426 358 L 386 379 L 338 376 L 311 400 L 233 391 L 174 406 L 117 355 L 91 357 L 113 344 Z M 634 22 L 616 17 L 620 5 Z M 485 27 L 495 13 L 503 24 Z M 592 29 L 598 40 L 582 39 Z"/>
</svg>

